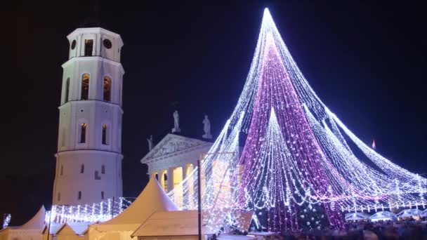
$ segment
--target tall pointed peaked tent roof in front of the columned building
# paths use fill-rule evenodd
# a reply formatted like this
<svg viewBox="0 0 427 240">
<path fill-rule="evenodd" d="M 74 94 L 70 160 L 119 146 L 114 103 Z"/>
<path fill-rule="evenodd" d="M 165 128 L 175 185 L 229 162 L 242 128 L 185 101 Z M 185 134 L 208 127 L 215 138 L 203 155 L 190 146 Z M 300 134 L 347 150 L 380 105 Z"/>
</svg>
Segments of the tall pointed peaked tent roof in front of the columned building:
<svg viewBox="0 0 427 240">
<path fill-rule="evenodd" d="M 144 222 L 155 211 L 178 211 L 178 207 L 166 195 L 166 192 L 164 192 L 159 182 L 153 176 L 131 206 L 115 218 L 102 222 L 99 225 L 140 225 L 141 222 Z"/>
</svg>

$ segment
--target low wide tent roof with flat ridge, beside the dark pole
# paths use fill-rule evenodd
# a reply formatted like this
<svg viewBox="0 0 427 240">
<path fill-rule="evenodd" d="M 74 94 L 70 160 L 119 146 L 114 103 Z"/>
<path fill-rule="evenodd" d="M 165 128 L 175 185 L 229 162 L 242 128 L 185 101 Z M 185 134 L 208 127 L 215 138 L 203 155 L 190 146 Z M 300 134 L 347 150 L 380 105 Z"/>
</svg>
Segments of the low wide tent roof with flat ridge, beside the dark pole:
<svg viewBox="0 0 427 240">
<path fill-rule="evenodd" d="M 202 234 L 213 234 L 202 222 Z M 131 236 L 195 236 L 198 234 L 197 211 L 156 212 Z"/>
</svg>

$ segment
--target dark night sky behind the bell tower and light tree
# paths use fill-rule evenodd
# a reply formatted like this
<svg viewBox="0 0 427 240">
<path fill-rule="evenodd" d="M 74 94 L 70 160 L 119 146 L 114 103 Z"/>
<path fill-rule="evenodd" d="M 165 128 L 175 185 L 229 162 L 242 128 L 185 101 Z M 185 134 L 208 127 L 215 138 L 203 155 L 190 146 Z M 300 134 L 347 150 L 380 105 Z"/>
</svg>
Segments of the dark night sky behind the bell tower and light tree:
<svg viewBox="0 0 427 240">
<path fill-rule="evenodd" d="M 93 18 L 94 5 L 2 7 L 0 213 L 12 213 L 13 225 L 51 204 L 66 36 Z M 383 156 L 427 173 L 421 1 L 100 1 L 101 26 L 124 41 L 124 196 L 145 186 L 146 138 L 157 143 L 171 131 L 172 102 L 183 135 L 199 138 L 204 114 L 214 135 L 221 130 L 249 72 L 265 7 L 329 109 L 364 142 L 375 139 Z"/>
</svg>

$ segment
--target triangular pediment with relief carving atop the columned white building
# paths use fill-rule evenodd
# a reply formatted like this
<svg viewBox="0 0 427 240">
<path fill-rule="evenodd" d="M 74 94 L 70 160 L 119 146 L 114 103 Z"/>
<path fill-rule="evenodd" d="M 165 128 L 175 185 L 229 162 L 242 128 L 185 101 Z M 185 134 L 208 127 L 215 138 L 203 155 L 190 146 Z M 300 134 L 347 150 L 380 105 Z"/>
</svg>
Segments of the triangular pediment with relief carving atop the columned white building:
<svg viewBox="0 0 427 240">
<path fill-rule="evenodd" d="M 210 144 L 195 138 L 187 138 L 180 135 L 168 133 L 157 145 L 141 159 L 141 163 L 145 164 L 151 159 L 157 159 L 169 154 L 185 151 L 187 149 Z"/>
</svg>

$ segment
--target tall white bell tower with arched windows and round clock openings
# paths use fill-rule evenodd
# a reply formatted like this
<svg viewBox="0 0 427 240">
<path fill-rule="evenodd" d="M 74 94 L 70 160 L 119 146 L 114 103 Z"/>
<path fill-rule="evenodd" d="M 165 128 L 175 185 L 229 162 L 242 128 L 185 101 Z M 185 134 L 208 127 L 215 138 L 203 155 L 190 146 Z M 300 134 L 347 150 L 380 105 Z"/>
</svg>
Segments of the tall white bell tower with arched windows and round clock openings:
<svg viewBox="0 0 427 240">
<path fill-rule="evenodd" d="M 100 27 L 78 28 L 67 39 L 53 204 L 91 204 L 122 195 L 123 41 Z"/>
</svg>

